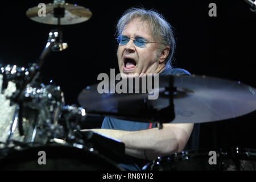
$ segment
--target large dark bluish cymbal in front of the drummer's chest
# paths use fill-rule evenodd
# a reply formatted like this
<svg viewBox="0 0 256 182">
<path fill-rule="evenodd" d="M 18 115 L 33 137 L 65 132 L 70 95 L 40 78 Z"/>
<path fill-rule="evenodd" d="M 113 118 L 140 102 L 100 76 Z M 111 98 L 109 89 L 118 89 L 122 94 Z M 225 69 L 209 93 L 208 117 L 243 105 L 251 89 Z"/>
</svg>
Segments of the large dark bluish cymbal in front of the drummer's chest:
<svg viewBox="0 0 256 182">
<path fill-rule="evenodd" d="M 172 98 L 175 118 L 171 119 L 170 110 L 165 113 L 167 121 L 164 122 L 222 121 L 249 114 L 256 109 L 255 88 L 240 81 L 196 75 L 171 77 L 176 88 Z M 150 117 L 154 117 L 155 110 L 170 105 L 165 89 L 168 86 L 168 76 L 159 76 L 159 97 L 148 100 L 148 94 L 100 94 L 96 84 L 82 90 L 78 101 L 86 113 L 110 115 L 127 121 L 157 122 Z"/>
</svg>

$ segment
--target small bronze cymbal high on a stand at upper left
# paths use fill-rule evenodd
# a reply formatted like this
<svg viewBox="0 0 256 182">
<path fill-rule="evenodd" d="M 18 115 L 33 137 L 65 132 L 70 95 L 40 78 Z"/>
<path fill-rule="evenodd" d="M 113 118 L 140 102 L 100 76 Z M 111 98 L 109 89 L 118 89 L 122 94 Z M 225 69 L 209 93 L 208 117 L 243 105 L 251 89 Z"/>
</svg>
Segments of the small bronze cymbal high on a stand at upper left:
<svg viewBox="0 0 256 182">
<path fill-rule="evenodd" d="M 92 17 L 92 12 L 85 7 L 69 3 L 65 3 L 59 6 L 65 8 L 65 16 L 60 18 L 60 25 L 81 23 Z M 53 14 L 55 7 L 57 7 L 57 5 L 54 3 L 46 4 L 46 16 L 38 15 L 38 11 L 40 10 L 38 6 L 28 9 L 26 15 L 28 18 L 34 20 L 35 22 L 45 24 L 58 24 L 58 19 Z"/>
</svg>

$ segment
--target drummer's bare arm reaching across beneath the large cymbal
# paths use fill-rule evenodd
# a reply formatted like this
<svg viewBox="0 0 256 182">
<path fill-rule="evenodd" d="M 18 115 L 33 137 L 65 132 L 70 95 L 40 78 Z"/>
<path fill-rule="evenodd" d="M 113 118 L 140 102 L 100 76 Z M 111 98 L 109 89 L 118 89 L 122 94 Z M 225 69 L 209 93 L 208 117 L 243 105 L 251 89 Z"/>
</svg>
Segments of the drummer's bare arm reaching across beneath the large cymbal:
<svg viewBox="0 0 256 182">
<path fill-rule="evenodd" d="M 163 129 L 160 130 L 158 128 L 140 131 L 92 129 L 96 133 L 121 140 L 125 143 L 126 154 L 148 160 L 154 160 L 158 156 L 169 155 L 174 152 L 181 152 L 192 130 L 193 123 L 164 123 Z"/>
</svg>

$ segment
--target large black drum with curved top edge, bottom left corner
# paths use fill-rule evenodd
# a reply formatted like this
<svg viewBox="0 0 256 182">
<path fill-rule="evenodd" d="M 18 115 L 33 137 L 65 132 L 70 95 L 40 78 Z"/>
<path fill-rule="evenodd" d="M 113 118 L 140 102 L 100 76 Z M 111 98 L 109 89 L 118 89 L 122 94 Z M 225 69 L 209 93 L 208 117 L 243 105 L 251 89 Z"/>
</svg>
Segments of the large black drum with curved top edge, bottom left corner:
<svg viewBox="0 0 256 182">
<path fill-rule="evenodd" d="M 44 163 L 45 162 L 45 163 Z M 10 150 L 0 160 L 3 171 L 121 171 L 96 151 L 69 146 L 39 146 Z"/>
</svg>

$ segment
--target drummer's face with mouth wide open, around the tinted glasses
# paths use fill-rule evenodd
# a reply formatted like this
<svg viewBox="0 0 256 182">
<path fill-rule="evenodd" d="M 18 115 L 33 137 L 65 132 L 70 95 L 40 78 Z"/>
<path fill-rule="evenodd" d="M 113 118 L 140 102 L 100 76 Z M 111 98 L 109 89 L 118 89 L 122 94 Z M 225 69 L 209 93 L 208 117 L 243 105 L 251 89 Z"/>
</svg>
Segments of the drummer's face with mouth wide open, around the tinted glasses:
<svg viewBox="0 0 256 182">
<path fill-rule="evenodd" d="M 151 35 L 147 22 L 132 20 L 122 32 L 129 38 L 141 37 L 150 42 L 158 42 Z M 119 44 L 117 51 L 119 71 L 122 76 L 137 73 L 157 73 L 159 69 L 159 43 L 147 43 L 144 47 L 135 46 L 132 39 L 125 45 Z"/>
</svg>

